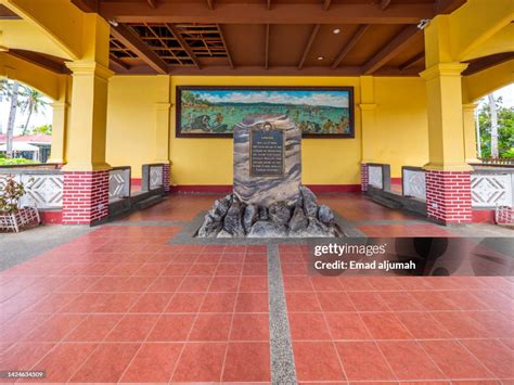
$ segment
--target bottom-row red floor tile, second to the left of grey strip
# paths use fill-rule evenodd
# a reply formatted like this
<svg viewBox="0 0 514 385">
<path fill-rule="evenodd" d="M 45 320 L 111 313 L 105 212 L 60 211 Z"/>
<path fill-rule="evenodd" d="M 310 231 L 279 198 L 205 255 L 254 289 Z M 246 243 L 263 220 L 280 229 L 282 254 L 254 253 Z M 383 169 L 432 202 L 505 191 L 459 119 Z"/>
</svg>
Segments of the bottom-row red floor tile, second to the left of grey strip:
<svg viewBox="0 0 514 385">
<path fill-rule="evenodd" d="M 172 381 L 219 382 L 226 350 L 226 343 L 185 344 Z"/>
</svg>

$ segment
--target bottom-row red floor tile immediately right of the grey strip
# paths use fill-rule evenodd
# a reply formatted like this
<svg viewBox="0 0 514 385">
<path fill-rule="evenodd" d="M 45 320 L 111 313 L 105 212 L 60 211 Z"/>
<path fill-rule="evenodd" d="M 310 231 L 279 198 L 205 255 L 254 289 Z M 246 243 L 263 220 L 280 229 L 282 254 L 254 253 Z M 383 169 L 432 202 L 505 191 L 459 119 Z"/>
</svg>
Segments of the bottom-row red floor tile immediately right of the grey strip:
<svg viewBox="0 0 514 385">
<path fill-rule="evenodd" d="M 332 343 L 295 342 L 293 351 L 298 381 L 346 381 Z"/>
</svg>

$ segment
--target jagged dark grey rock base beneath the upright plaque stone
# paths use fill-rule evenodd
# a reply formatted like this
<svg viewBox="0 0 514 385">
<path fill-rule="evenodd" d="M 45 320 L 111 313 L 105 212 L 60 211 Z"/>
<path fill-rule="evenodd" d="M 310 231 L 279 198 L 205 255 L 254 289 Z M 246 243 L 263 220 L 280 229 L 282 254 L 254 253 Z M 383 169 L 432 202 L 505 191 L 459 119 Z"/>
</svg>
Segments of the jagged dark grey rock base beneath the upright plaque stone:
<svg viewBox="0 0 514 385">
<path fill-rule="evenodd" d="M 198 238 L 334 238 L 344 236 L 330 207 L 318 205 L 312 191 L 299 188 L 293 204 L 269 207 L 242 203 L 235 194 L 217 200 L 205 216 Z"/>
</svg>

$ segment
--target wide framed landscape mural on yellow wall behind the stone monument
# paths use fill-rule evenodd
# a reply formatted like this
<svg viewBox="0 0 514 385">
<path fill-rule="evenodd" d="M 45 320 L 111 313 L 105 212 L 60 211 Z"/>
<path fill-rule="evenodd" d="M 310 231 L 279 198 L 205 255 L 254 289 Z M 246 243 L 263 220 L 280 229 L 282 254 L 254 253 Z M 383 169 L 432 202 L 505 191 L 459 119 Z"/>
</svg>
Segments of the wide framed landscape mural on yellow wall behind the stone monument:
<svg viewBox="0 0 514 385">
<path fill-rule="evenodd" d="M 284 114 L 304 138 L 354 138 L 352 88 L 178 87 L 177 137 L 232 137 L 250 114 Z"/>
</svg>

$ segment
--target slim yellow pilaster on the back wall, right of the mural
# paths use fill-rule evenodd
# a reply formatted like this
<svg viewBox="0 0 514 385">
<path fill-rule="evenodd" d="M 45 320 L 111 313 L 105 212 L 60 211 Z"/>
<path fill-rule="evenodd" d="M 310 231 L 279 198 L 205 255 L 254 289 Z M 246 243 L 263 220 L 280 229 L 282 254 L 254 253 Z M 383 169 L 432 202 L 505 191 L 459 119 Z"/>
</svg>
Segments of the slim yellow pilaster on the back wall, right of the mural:
<svg viewBox="0 0 514 385">
<path fill-rule="evenodd" d="M 374 103 L 375 95 L 373 89 L 373 77 L 361 76 L 360 77 L 360 100 L 359 104 L 361 114 L 361 146 L 362 146 L 362 164 L 373 163 L 375 159 L 374 149 L 372 147 L 373 136 L 376 129 L 375 123 L 375 110 L 376 104 Z"/>
</svg>

